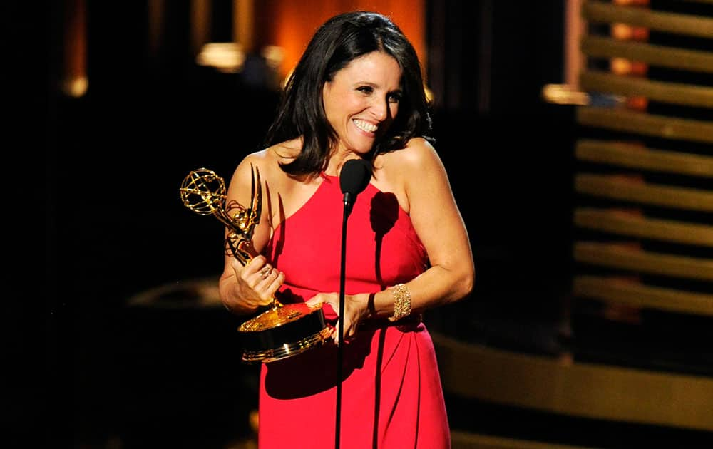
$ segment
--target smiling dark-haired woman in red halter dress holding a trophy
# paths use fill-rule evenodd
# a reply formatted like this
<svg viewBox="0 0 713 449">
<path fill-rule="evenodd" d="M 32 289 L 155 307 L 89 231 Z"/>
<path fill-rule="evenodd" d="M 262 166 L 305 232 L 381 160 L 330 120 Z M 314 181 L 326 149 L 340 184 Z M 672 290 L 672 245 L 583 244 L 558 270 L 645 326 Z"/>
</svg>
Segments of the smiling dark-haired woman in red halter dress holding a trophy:
<svg viewBox="0 0 713 449">
<path fill-rule="evenodd" d="M 260 448 L 450 447 L 421 314 L 470 294 L 474 269 L 430 131 L 414 47 L 388 17 L 354 11 L 319 27 L 264 149 L 235 169 L 227 204 L 250 204 L 253 167 L 265 204 L 251 262 L 225 257 L 222 303 L 235 314 L 259 313 L 273 296 L 323 306 L 332 331 L 323 344 L 262 363 Z M 342 271 L 340 176 L 355 160 L 369 183 L 350 210 Z"/>
</svg>

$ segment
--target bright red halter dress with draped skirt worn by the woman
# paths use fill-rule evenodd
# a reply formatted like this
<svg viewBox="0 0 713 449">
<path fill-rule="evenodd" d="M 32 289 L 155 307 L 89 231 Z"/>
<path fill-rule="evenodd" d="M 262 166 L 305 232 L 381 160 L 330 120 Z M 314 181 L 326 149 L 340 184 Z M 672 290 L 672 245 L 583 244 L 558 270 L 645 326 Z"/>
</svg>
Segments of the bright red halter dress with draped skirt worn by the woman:
<svg viewBox="0 0 713 449">
<path fill-rule="evenodd" d="M 268 246 L 286 279 L 283 302 L 339 292 L 344 202 L 339 178 L 322 175 L 307 202 L 279 224 Z M 374 185 L 356 197 L 347 220 L 346 294 L 381 291 L 428 267 L 426 251 L 396 197 Z M 334 324 L 336 314 L 324 306 Z M 335 447 L 337 346 L 331 341 L 260 369 L 258 445 Z M 339 447 L 450 447 L 433 341 L 418 317 L 366 321 L 343 346 Z"/>
</svg>

